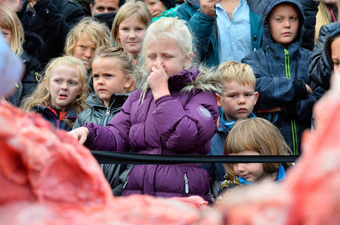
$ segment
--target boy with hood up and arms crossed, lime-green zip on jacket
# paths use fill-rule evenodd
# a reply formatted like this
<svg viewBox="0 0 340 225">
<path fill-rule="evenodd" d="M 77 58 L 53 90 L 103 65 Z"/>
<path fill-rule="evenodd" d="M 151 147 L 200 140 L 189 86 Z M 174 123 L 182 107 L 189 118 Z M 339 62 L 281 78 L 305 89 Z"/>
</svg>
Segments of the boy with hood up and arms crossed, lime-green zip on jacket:
<svg viewBox="0 0 340 225">
<path fill-rule="evenodd" d="M 311 51 L 300 46 L 305 22 L 299 0 L 265 0 L 263 47 L 242 59 L 253 67 L 258 110 L 281 128 L 294 154 L 310 127 L 313 104 L 324 90 L 308 77 Z"/>
</svg>

